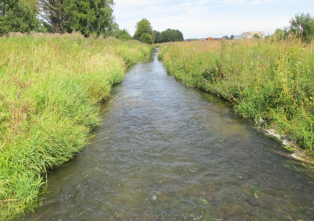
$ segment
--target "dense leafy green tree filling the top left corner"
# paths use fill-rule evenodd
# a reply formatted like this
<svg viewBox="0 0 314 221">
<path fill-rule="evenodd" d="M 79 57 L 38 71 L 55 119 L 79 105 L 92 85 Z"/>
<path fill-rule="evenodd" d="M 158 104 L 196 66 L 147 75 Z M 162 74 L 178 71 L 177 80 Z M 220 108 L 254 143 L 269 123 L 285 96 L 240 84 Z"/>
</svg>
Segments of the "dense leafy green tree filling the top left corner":
<svg viewBox="0 0 314 221">
<path fill-rule="evenodd" d="M 37 18 L 36 0 L 1 0 L 0 1 L 0 36 L 9 32 L 26 32 L 38 30 L 40 20 Z"/>
</svg>

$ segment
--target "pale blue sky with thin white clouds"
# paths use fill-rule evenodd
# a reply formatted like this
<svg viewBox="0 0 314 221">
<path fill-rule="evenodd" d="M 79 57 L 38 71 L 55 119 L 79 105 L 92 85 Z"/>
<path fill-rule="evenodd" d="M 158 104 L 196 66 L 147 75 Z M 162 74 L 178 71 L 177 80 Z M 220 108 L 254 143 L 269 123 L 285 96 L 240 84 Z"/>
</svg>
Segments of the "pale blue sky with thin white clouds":
<svg viewBox="0 0 314 221">
<path fill-rule="evenodd" d="M 314 0 L 114 0 L 113 14 L 120 29 L 133 36 L 136 23 L 146 18 L 153 30 L 178 29 L 184 39 L 241 35 L 289 25 L 300 12 L 314 17 Z"/>
</svg>

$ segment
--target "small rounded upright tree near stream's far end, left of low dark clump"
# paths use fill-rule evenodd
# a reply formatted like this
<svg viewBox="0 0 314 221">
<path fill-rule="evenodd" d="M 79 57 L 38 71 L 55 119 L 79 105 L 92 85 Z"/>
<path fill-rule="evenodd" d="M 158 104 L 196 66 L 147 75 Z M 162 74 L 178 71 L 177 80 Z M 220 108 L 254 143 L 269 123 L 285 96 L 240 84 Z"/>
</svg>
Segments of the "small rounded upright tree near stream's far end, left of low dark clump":
<svg viewBox="0 0 314 221">
<path fill-rule="evenodd" d="M 133 38 L 143 43 L 152 44 L 154 42 L 153 27 L 149 20 L 143 18 L 136 23 Z"/>
</svg>

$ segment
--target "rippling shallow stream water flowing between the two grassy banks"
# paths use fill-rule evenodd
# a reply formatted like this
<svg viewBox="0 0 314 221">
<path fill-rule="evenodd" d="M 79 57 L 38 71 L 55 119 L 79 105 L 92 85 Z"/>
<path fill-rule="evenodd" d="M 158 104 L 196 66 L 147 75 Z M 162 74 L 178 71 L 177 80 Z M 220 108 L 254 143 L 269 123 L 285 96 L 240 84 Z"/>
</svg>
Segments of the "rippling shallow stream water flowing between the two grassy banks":
<svg viewBox="0 0 314 221">
<path fill-rule="evenodd" d="M 314 173 L 157 55 L 129 68 L 94 143 L 49 172 L 50 192 L 19 220 L 313 220 Z"/>
</svg>

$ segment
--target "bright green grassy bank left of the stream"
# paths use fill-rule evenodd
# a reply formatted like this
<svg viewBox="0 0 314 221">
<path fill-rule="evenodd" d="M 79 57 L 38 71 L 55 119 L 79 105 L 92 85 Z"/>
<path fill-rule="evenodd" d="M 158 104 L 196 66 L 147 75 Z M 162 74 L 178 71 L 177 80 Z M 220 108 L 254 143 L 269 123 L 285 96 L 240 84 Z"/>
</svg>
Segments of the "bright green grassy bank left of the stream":
<svg viewBox="0 0 314 221">
<path fill-rule="evenodd" d="M 100 124 L 99 102 L 152 47 L 79 34 L 0 38 L 0 219 L 37 199 Z"/>
</svg>

